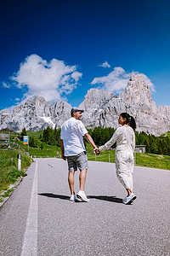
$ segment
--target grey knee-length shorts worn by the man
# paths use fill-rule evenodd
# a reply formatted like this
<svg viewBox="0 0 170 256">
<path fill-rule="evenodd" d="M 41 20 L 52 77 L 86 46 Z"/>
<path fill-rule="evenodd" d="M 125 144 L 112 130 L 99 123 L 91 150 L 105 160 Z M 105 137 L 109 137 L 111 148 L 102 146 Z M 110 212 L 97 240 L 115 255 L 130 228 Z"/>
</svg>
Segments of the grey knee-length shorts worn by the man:
<svg viewBox="0 0 170 256">
<path fill-rule="evenodd" d="M 68 162 L 69 172 L 77 171 L 77 167 L 80 171 L 88 170 L 88 156 L 87 152 L 83 151 L 77 155 L 71 155 L 66 157 Z"/>
</svg>

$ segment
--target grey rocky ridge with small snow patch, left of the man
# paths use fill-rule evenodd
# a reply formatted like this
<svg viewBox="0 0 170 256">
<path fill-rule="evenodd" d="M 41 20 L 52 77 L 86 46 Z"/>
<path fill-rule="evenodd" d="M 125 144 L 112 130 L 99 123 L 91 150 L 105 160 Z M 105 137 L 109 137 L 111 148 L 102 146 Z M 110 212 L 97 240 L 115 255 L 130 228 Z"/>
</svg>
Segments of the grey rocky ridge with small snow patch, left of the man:
<svg viewBox="0 0 170 256">
<path fill-rule="evenodd" d="M 69 119 L 71 105 L 57 101 L 46 102 L 41 96 L 32 96 L 24 104 L 14 107 L 12 112 L 0 111 L 0 128 L 11 128 L 13 131 L 38 131 L 48 126 L 59 128 Z"/>
</svg>

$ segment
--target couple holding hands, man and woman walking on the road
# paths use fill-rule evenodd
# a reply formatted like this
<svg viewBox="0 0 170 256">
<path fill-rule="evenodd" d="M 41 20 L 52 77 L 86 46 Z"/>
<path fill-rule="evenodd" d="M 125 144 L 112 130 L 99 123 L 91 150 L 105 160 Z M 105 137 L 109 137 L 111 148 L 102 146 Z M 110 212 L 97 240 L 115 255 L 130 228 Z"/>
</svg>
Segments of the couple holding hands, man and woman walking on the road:
<svg viewBox="0 0 170 256">
<path fill-rule="evenodd" d="M 68 163 L 68 182 L 71 189 L 70 201 L 89 201 L 84 193 L 88 171 L 88 156 L 83 143 L 83 137 L 86 137 L 88 143 L 94 148 L 94 154 L 99 154 L 101 151 L 111 148 L 116 143 L 116 176 L 127 190 L 127 196 L 122 199 L 122 202 L 126 205 L 130 204 L 136 199 L 136 195 L 133 194 L 135 120 L 128 113 L 121 113 L 118 123 L 122 126 L 116 129 L 111 139 L 105 145 L 97 148 L 93 138 L 88 134 L 88 130 L 80 120 L 83 112 L 84 110 L 81 108 L 72 108 L 71 119 L 65 121 L 61 126 L 61 154 L 62 159 L 67 160 Z M 74 174 L 77 171 L 77 167 L 80 170 L 80 190 L 76 195 L 74 191 Z"/>
</svg>

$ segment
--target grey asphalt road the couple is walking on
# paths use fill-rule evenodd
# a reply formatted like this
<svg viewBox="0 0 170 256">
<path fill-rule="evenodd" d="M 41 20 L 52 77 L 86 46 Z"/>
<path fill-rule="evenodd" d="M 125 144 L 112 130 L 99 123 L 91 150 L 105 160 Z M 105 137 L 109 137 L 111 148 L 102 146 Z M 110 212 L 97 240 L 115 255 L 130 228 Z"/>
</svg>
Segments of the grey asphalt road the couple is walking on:
<svg viewBox="0 0 170 256">
<path fill-rule="evenodd" d="M 31 165 L 0 209 L 0 255 L 170 255 L 170 171 L 135 167 L 126 206 L 115 164 L 88 165 L 88 203 L 69 201 L 64 160 Z"/>
</svg>

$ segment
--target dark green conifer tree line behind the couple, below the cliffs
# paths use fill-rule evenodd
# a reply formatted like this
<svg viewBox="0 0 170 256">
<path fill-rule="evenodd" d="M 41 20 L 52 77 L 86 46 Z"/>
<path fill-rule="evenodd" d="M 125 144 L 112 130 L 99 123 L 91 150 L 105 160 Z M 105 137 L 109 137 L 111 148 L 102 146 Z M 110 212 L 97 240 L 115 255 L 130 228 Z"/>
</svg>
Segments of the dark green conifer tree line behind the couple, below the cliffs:
<svg viewBox="0 0 170 256">
<path fill-rule="evenodd" d="M 25 128 L 24 128 L 25 129 Z M 39 140 L 42 143 L 47 143 L 52 146 L 60 146 L 60 131 L 61 129 L 53 129 L 47 127 L 43 130 L 42 135 L 40 135 Z M 88 129 L 88 133 L 94 139 L 96 145 L 101 146 L 108 142 L 113 133 L 115 132 L 114 128 L 106 127 L 95 127 L 94 129 Z M 26 131 L 22 132 L 20 135 L 26 135 Z M 135 131 L 136 145 L 145 145 L 146 152 L 151 154 L 168 154 L 170 155 L 170 138 L 165 136 L 156 137 L 154 135 L 148 135 L 144 131 L 138 132 Z M 84 139 L 85 146 L 87 145 L 87 140 Z M 37 147 L 37 142 L 34 137 L 29 138 L 29 145 L 31 147 Z M 116 145 L 113 145 L 114 148 Z M 41 144 L 42 147 L 42 144 Z M 40 147 L 40 148 L 41 148 Z"/>
</svg>

